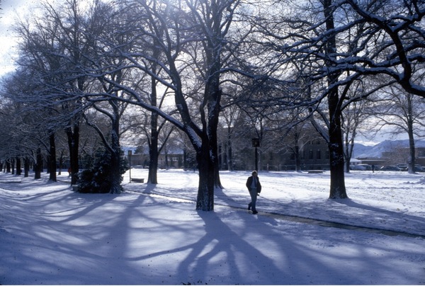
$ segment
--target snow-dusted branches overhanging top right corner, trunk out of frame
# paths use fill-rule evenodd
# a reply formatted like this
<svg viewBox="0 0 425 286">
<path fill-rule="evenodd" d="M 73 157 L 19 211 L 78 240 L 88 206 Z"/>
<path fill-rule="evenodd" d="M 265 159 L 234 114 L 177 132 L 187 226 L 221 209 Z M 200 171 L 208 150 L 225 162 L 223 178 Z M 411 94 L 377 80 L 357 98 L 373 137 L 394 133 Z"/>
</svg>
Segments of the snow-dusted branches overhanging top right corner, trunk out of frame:
<svg viewBox="0 0 425 286">
<path fill-rule="evenodd" d="M 345 2 L 360 17 L 358 23 L 368 25 L 362 35 L 364 44 L 367 40 L 377 40 L 373 42 L 374 45 L 361 46 L 363 55 L 370 56 L 347 57 L 336 64 L 337 69 L 348 69 L 363 76 L 383 74 L 408 93 L 425 97 L 422 71 L 417 67 L 422 67 L 425 62 L 425 31 L 422 28 L 424 1 Z"/>
</svg>

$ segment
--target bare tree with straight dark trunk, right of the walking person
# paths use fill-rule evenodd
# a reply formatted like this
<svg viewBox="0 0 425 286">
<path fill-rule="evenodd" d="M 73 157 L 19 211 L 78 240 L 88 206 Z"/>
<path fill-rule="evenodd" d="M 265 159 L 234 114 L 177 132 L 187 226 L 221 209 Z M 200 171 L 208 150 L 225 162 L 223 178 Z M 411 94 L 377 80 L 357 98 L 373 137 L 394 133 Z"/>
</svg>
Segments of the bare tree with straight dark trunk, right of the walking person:
<svg viewBox="0 0 425 286">
<path fill-rule="evenodd" d="M 341 112 L 346 91 L 339 90 L 341 71 L 335 69 L 338 47 L 346 47 L 336 38 L 334 16 L 338 8 L 331 0 L 303 2 L 302 11 L 288 6 L 283 16 L 266 18 L 259 23 L 265 35 L 262 45 L 280 52 L 271 75 L 282 79 L 282 69 L 295 70 L 302 79 L 304 92 L 290 92 L 283 104 L 309 108 L 310 122 L 329 147 L 331 184 L 329 198 L 347 198 L 344 181 L 344 151 L 341 132 Z M 268 7 L 270 9 L 270 7 Z M 347 37 L 344 37 L 347 40 Z M 351 40 L 351 39 L 350 39 Z M 339 42 L 337 42 L 339 41 Z M 273 60 L 273 59 L 272 59 Z M 300 81 L 299 79 L 297 81 Z"/>
</svg>

